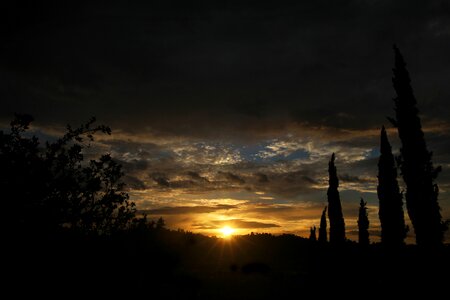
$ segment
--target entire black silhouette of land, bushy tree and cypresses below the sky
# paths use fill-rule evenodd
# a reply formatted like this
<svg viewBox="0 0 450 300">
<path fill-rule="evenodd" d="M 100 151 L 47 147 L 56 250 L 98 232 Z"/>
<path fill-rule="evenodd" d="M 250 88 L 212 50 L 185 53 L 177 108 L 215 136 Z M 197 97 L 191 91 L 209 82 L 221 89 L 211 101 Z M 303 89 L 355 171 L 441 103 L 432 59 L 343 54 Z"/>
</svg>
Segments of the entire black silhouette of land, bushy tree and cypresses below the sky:
<svg viewBox="0 0 450 300">
<path fill-rule="evenodd" d="M 41 144 L 16 115 L 0 131 L 2 248 L 5 295 L 15 297 L 150 297 L 154 299 L 292 299 L 446 293 L 450 249 L 443 245 L 435 179 L 409 75 L 395 48 L 396 120 L 402 148 L 395 158 L 381 129 L 378 162 L 381 243 L 370 244 L 367 203 L 359 207 L 359 243 L 346 239 L 335 154 L 328 165 L 328 205 L 310 238 L 249 234 L 229 240 L 139 216 L 110 155 L 88 151 L 95 119 L 67 127 Z M 417 245 L 408 231 L 397 167 Z M 417 177 L 415 177 L 417 175 Z M 329 238 L 327 214 L 330 222 Z M 329 242 L 328 242 L 329 241 Z M 363 246 L 363 247 L 362 247 Z M 442 272 L 444 270 L 444 272 Z"/>
</svg>

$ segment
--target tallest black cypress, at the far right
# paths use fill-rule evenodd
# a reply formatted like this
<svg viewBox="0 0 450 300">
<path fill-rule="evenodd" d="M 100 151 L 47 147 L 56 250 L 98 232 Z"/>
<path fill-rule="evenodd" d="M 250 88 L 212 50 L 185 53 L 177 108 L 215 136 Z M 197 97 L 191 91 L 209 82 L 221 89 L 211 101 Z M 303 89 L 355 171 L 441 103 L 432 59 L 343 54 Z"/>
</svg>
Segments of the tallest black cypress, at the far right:
<svg viewBox="0 0 450 300">
<path fill-rule="evenodd" d="M 423 246 L 441 245 L 447 227 L 442 222 L 439 189 L 435 184 L 441 169 L 434 168 L 431 162 L 432 153 L 425 143 L 417 101 L 403 56 L 396 46 L 394 52 L 392 82 L 397 97 L 394 98 L 396 119 L 391 121 L 397 127 L 402 142 L 398 163 L 406 184 L 406 207 L 414 226 L 416 243 Z"/>
</svg>

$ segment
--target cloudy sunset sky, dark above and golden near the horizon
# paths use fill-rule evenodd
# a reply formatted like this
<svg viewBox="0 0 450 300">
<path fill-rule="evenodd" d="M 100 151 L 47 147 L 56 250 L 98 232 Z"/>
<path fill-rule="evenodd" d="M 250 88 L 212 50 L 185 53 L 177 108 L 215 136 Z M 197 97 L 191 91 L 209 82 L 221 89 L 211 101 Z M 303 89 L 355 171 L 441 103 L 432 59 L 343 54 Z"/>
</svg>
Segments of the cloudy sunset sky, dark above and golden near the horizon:
<svg viewBox="0 0 450 300">
<path fill-rule="evenodd" d="M 228 225 L 307 236 L 327 204 L 335 152 L 347 236 L 357 238 L 363 197 L 379 239 L 382 125 L 400 147 L 386 118 L 395 43 L 450 218 L 447 1 L 0 5 L 1 127 L 29 113 L 45 139 L 96 116 L 113 134 L 92 151 L 123 165 L 139 211 L 208 235 Z"/>
</svg>

